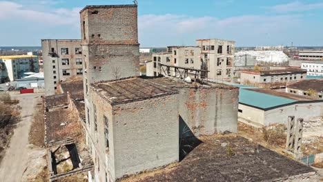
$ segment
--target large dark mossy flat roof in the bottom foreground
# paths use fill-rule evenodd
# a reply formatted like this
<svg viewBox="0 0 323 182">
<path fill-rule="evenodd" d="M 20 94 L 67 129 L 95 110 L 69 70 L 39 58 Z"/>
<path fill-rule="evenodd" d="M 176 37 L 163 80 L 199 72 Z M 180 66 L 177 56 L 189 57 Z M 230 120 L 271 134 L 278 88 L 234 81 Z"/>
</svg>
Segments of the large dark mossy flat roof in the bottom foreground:
<svg viewBox="0 0 323 182">
<path fill-rule="evenodd" d="M 183 161 L 119 181 L 286 181 L 300 174 L 315 175 L 313 168 L 261 145 L 257 152 L 255 144 L 241 136 L 213 135 L 199 139 L 203 143 Z M 228 150 L 233 154 L 228 154 Z"/>
</svg>

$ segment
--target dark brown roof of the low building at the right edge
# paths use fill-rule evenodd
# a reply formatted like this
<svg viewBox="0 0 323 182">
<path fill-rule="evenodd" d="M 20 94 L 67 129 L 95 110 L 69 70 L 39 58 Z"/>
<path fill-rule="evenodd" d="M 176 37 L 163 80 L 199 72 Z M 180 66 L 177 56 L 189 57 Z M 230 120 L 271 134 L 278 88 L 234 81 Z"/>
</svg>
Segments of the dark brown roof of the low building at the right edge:
<svg viewBox="0 0 323 182">
<path fill-rule="evenodd" d="M 306 79 L 298 81 L 291 85 L 287 85 L 287 88 L 294 88 L 297 90 L 315 90 L 316 92 L 323 92 L 323 79 Z"/>
</svg>

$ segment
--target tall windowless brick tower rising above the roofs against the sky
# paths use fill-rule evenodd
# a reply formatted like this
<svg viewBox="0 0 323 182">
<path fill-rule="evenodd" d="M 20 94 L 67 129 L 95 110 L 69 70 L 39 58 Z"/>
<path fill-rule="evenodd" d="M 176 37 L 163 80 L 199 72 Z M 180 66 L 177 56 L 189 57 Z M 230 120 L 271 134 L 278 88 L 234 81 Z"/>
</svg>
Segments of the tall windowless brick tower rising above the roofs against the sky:
<svg viewBox="0 0 323 182">
<path fill-rule="evenodd" d="M 137 6 L 94 6 L 81 12 L 88 83 L 139 76 Z"/>
</svg>

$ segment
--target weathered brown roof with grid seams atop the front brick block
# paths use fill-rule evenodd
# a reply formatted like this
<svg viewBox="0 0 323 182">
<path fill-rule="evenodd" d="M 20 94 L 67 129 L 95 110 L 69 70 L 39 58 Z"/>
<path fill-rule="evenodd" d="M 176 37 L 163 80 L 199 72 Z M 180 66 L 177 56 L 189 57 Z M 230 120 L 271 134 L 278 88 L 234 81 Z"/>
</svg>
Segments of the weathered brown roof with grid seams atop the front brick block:
<svg viewBox="0 0 323 182">
<path fill-rule="evenodd" d="M 92 84 L 92 89 L 112 104 L 141 101 L 154 97 L 178 94 L 174 88 L 159 85 L 139 77 Z"/>
</svg>

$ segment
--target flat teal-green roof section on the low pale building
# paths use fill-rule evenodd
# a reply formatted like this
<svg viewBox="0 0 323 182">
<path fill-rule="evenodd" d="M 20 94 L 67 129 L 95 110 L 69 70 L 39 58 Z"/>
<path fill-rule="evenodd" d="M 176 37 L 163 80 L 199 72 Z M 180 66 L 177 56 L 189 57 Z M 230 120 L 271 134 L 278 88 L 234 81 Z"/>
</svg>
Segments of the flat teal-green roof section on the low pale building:
<svg viewBox="0 0 323 182">
<path fill-rule="evenodd" d="M 286 99 L 270 94 L 255 92 L 252 90 L 239 89 L 239 103 L 250 105 L 255 108 L 267 109 L 279 105 L 297 102 L 293 99 Z"/>
</svg>

